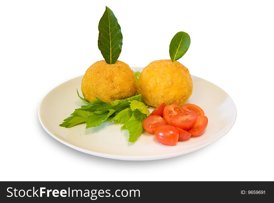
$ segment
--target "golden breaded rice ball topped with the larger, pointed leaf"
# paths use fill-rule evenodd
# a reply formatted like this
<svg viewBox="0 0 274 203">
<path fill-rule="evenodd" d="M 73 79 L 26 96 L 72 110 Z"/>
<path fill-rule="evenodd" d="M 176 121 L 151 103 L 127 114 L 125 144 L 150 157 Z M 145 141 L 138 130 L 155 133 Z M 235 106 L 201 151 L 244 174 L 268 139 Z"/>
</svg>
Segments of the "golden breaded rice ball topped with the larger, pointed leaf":
<svg viewBox="0 0 274 203">
<path fill-rule="evenodd" d="M 106 103 L 125 99 L 136 94 L 136 80 L 133 70 L 122 61 L 107 64 L 97 61 L 86 71 L 82 79 L 82 93 L 88 101 L 98 97 Z"/>
</svg>

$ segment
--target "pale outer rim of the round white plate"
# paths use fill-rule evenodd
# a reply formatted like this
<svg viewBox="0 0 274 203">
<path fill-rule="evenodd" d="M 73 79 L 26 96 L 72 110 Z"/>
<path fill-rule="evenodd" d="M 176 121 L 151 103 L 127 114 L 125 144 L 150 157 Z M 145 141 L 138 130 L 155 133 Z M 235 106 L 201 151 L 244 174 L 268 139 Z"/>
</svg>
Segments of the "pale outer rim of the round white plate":
<svg viewBox="0 0 274 203">
<path fill-rule="evenodd" d="M 191 76 L 194 76 L 196 78 L 199 78 L 199 79 L 202 79 L 200 77 L 197 77 L 195 75 L 191 75 Z M 81 76 L 78 76 L 78 77 L 83 77 L 83 75 Z M 235 121 L 236 121 L 236 118 L 237 118 L 237 108 L 236 108 L 236 105 L 233 101 L 233 99 L 230 97 L 230 95 L 225 92 L 222 88 L 220 88 L 219 86 L 215 85 L 214 83 L 211 83 L 210 81 L 208 80 L 205 80 L 206 82 L 208 83 L 211 83 L 215 86 L 217 86 L 218 88 L 220 88 L 222 91 L 224 91 L 228 96 L 229 98 L 231 99 L 232 103 L 233 103 L 233 106 L 235 108 L 235 116 L 234 116 L 234 120 L 232 122 L 232 124 L 227 128 L 227 130 L 220 134 L 219 136 L 217 136 L 215 139 L 211 139 L 209 142 L 205 142 L 204 144 L 202 145 L 199 145 L 197 147 L 193 147 L 187 151 L 178 151 L 178 152 L 172 152 L 172 153 L 169 153 L 169 154 L 164 154 L 164 155 L 150 155 L 150 156 L 125 156 L 125 155 L 113 155 L 113 154 L 108 154 L 108 153 L 102 153 L 102 152 L 96 152 L 96 151 L 91 151 L 91 150 L 87 150 L 87 149 L 84 149 L 84 148 L 81 148 L 81 147 L 77 147 L 69 142 L 66 142 L 60 138 L 58 138 L 57 136 L 55 136 L 53 133 L 51 133 L 46 127 L 45 125 L 43 124 L 42 120 L 41 120 L 41 105 L 43 103 L 43 101 L 45 100 L 45 98 L 48 96 L 48 94 L 50 94 L 50 92 L 52 92 L 55 88 L 59 87 L 60 85 L 63 85 L 64 83 L 68 83 L 69 81 L 71 80 L 74 80 L 78 77 L 75 77 L 73 79 L 70 79 L 70 80 L 67 80 L 61 84 L 59 84 L 58 86 L 54 87 L 52 90 L 50 90 L 42 99 L 42 101 L 40 102 L 40 105 L 39 105 L 39 108 L 38 108 L 38 118 L 39 118 L 39 121 L 40 121 L 40 124 L 41 126 L 43 127 L 43 129 L 51 136 L 53 137 L 54 139 L 56 139 L 57 141 L 61 142 L 62 144 L 68 146 L 68 147 L 71 147 L 77 151 L 81 151 L 81 152 L 84 152 L 86 154 L 90 154 L 90 155 L 93 155 L 93 156 L 99 156 L 99 157 L 103 157 L 103 158 L 109 158 L 109 159 L 116 159 L 116 160 L 132 160 L 132 161 L 144 161 L 144 160 L 160 160 L 160 159 L 168 159 L 168 158 L 172 158 L 172 157 L 177 157 L 177 156 L 182 156 L 182 155 L 185 155 L 185 154 L 188 154 L 188 153 L 191 153 L 193 151 L 197 151 L 197 150 L 200 150 L 206 146 L 209 146 L 210 144 L 212 144 L 213 142 L 216 142 L 217 140 L 219 140 L 220 138 L 224 137 L 224 135 L 226 135 L 229 130 L 233 127 Z"/>
</svg>

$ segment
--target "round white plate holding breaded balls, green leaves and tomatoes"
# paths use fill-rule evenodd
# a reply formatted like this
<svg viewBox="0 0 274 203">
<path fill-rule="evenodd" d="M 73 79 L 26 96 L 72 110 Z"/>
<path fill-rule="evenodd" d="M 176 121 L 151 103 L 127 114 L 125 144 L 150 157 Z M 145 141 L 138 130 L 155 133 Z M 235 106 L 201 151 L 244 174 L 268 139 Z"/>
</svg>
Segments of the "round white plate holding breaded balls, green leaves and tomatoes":
<svg viewBox="0 0 274 203">
<path fill-rule="evenodd" d="M 59 127 L 74 109 L 85 105 L 76 94 L 76 88 L 81 89 L 82 77 L 71 79 L 51 90 L 42 100 L 38 115 L 41 125 L 52 137 L 91 155 L 120 160 L 156 160 L 180 156 L 220 139 L 236 120 L 236 107 L 229 95 L 215 84 L 192 76 L 193 93 L 187 102 L 205 111 L 208 127 L 201 136 L 179 141 L 176 146 L 162 145 L 153 134 L 145 131 L 135 143 L 130 143 L 128 132 L 120 131 L 120 124 L 104 122 L 99 127 L 89 129 L 85 128 L 85 124 L 69 129 Z"/>
</svg>

